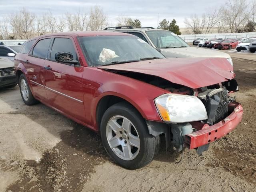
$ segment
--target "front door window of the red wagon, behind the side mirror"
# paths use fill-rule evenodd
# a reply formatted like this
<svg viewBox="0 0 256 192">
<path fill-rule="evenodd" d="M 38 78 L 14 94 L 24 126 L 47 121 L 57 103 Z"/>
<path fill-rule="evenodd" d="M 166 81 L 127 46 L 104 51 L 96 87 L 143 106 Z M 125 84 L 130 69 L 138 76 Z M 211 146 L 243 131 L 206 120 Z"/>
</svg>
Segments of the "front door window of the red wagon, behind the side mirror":
<svg viewBox="0 0 256 192">
<path fill-rule="evenodd" d="M 78 60 L 73 42 L 69 38 L 54 39 L 50 59 L 55 60 L 55 54 L 58 52 L 70 52 L 72 53 L 74 60 Z"/>
</svg>

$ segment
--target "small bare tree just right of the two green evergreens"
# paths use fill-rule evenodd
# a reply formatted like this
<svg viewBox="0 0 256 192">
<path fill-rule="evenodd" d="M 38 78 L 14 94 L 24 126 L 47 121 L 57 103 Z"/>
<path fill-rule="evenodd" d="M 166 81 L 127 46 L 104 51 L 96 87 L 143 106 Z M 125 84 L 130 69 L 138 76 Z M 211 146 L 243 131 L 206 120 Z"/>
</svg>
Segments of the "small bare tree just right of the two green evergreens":
<svg viewBox="0 0 256 192">
<path fill-rule="evenodd" d="M 202 34 L 204 26 L 206 25 L 205 14 L 202 17 L 197 14 L 192 15 L 190 18 L 185 18 L 184 23 L 188 28 L 191 28 L 194 34 Z"/>
</svg>

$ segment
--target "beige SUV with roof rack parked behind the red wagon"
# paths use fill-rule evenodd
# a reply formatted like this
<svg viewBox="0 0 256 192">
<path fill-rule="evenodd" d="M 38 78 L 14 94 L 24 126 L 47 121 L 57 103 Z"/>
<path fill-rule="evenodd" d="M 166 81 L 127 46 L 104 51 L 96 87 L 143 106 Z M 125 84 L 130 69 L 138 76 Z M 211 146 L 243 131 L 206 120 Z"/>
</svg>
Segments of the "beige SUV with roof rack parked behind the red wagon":
<svg viewBox="0 0 256 192">
<path fill-rule="evenodd" d="M 184 58 L 184 57 L 222 57 L 227 58 L 233 65 L 229 54 L 220 51 L 206 50 L 202 48 L 190 47 L 179 36 L 168 30 L 147 28 L 132 28 L 131 26 L 109 27 L 106 31 L 115 31 L 129 33 L 138 36 L 157 50 L 166 58 Z"/>
</svg>

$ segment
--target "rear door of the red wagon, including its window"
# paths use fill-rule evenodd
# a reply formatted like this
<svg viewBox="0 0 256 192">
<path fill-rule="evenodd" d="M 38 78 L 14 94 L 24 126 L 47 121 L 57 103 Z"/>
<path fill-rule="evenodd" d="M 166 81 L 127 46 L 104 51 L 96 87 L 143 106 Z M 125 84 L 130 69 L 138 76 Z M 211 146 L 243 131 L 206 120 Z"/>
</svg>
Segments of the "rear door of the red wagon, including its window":
<svg viewBox="0 0 256 192">
<path fill-rule="evenodd" d="M 48 55 L 51 40 L 49 37 L 38 40 L 24 61 L 34 97 L 45 101 L 47 96 L 44 88 L 44 62 Z"/>
</svg>

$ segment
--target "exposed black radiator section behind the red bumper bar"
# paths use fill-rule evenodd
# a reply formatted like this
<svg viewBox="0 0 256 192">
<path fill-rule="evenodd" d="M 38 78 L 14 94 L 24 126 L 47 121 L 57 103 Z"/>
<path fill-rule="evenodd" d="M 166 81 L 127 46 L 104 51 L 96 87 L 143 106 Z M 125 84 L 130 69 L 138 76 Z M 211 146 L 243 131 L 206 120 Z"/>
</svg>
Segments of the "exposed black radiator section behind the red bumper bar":
<svg viewBox="0 0 256 192">
<path fill-rule="evenodd" d="M 216 111 L 214 118 L 214 124 L 220 122 L 228 116 L 228 91 L 224 89 L 221 92 L 218 92 L 216 95 L 220 98 L 220 104 Z"/>
</svg>

